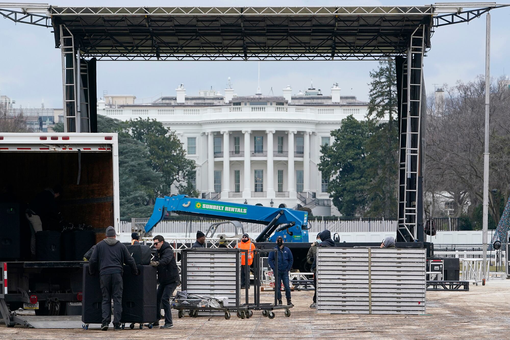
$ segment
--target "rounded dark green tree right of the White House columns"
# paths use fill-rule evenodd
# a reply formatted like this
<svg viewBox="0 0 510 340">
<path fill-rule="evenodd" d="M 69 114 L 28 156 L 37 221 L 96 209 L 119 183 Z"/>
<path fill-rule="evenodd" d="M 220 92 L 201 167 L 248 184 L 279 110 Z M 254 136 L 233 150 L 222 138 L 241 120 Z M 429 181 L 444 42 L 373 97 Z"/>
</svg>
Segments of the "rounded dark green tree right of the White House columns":
<svg viewBox="0 0 510 340">
<path fill-rule="evenodd" d="M 340 129 L 331 131 L 334 142 L 321 148 L 319 170 L 331 174 L 328 192 L 345 216 L 363 214 L 367 208 L 366 143 L 373 128 L 372 120 L 359 122 L 350 115 Z"/>
</svg>

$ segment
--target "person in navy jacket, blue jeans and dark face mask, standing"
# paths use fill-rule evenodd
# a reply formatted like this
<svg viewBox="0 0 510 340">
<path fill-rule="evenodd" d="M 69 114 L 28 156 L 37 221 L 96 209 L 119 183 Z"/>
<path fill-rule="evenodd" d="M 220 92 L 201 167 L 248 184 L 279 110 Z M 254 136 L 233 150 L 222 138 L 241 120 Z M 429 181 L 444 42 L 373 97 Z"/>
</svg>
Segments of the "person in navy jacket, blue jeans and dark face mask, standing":
<svg viewBox="0 0 510 340">
<path fill-rule="evenodd" d="M 278 295 L 278 305 L 282 305 L 282 292 L 280 291 L 282 287 L 282 282 L 284 283 L 285 288 L 285 297 L 287 298 L 287 305 L 292 305 L 291 296 L 290 296 L 290 285 L 289 285 L 289 271 L 292 268 L 292 263 L 294 262 L 294 257 L 289 248 L 284 246 L 284 239 L 282 236 L 278 236 L 276 238 L 276 247 L 278 251 L 278 263 L 274 263 L 274 252 L 269 253 L 268 263 L 273 272 L 278 272 L 278 281 L 274 283 L 274 287 L 276 288 L 276 292 Z"/>
</svg>

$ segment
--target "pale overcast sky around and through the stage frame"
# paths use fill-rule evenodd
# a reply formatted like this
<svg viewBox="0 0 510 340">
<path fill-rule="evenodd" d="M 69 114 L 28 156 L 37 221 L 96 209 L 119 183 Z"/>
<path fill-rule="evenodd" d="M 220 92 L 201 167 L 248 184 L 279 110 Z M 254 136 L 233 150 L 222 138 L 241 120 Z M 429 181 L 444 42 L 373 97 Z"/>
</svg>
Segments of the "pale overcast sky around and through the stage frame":
<svg viewBox="0 0 510 340">
<path fill-rule="evenodd" d="M 118 6 L 118 1 L 60 0 L 59 6 Z M 123 6 L 164 6 L 164 1 L 122 1 Z M 208 0 L 175 1 L 173 6 L 352 6 L 352 5 L 423 5 L 420 1 L 306 1 L 306 0 Z M 168 5 L 167 5 L 168 6 Z M 491 11 L 492 48 L 491 75 L 499 77 L 510 73 L 507 58 L 510 55 L 508 23 L 510 8 Z M 425 84 L 427 92 L 433 84 L 454 84 L 457 80 L 469 81 L 482 74 L 485 67 L 485 15 L 469 24 L 440 27 L 432 37 L 432 48 L 425 58 Z M 52 29 L 15 25 L 0 16 L 0 94 L 16 101 L 16 107 L 62 107 L 62 71 L 60 50 L 55 48 Z M 251 95 L 257 89 L 256 61 L 189 61 L 142 62 L 104 61 L 97 63 L 98 98 L 103 91 L 109 94 L 134 94 L 138 99 L 175 95 L 177 85 L 184 83 L 187 94 L 211 86 L 224 93 L 227 77 L 231 77 L 238 95 Z M 261 89 L 268 94 L 271 87 L 275 95 L 291 85 L 293 93 L 314 86 L 329 94 L 329 88 L 338 82 L 342 95 L 353 94 L 361 100 L 368 98 L 369 71 L 377 66 L 374 61 L 263 61 L 261 62 Z"/>
</svg>

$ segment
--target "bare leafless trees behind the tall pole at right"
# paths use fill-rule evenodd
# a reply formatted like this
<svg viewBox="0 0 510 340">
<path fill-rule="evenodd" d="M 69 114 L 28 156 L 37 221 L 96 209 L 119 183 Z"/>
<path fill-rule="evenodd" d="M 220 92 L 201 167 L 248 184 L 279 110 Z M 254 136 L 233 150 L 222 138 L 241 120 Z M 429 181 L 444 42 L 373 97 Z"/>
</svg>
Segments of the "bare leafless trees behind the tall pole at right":
<svg viewBox="0 0 510 340">
<path fill-rule="evenodd" d="M 489 185 L 506 202 L 510 195 L 510 90 L 498 84 L 501 81 L 491 84 Z M 427 187 L 447 193 L 455 202 L 456 215 L 483 199 L 484 95 L 484 78 L 478 76 L 472 82 L 445 86 L 444 107 L 437 108 L 433 99 L 428 100 Z M 492 195 L 489 211 L 499 221 L 499 200 Z"/>
</svg>

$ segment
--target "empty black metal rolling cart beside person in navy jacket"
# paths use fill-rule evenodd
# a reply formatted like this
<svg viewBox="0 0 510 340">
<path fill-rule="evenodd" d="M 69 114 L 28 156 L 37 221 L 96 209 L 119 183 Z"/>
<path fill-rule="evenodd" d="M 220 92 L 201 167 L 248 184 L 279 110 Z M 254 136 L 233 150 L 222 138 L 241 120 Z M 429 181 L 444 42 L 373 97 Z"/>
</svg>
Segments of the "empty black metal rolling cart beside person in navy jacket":
<svg viewBox="0 0 510 340">
<path fill-rule="evenodd" d="M 278 306 L 278 292 L 276 289 L 281 289 L 281 287 L 276 287 L 276 282 L 278 282 L 278 271 L 274 271 L 274 303 L 261 303 L 260 302 L 260 287 L 261 287 L 261 274 L 262 274 L 262 265 L 261 265 L 261 254 L 262 253 L 275 253 L 274 262 L 278 263 L 278 251 L 276 249 L 255 249 L 253 251 L 253 293 L 254 293 L 254 303 L 249 304 L 249 309 L 251 310 L 262 310 L 262 316 L 268 317 L 269 319 L 273 319 L 276 315 L 274 314 L 274 310 L 277 309 L 285 309 L 285 316 L 290 317 L 290 308 L 292 305 L 282 305 Z"/>
</svg>

